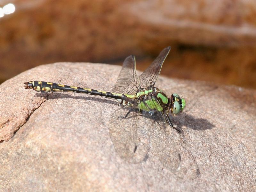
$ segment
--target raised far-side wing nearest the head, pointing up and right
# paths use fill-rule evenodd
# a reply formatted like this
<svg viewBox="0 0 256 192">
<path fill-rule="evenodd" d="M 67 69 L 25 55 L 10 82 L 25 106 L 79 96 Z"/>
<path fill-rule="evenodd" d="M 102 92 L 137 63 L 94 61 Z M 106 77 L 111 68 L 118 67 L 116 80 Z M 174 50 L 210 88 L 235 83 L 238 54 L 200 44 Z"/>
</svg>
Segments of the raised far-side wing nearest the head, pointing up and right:
<svg viewBox="0 0 256 192">
<path fill-rule="evenodd" d="M 168 53 L 170 52 L 171 47 L 164 48 L 163 51 L 160 52 L 158 57 L 151 63 L 150 66 L 140 75 L 140 84 L 142 87 L 147 88 L 150 85 L 154 86 L 156 80 L 159 76 L 161 71 L 163 62 L 167 57 Z"/>
</svg>

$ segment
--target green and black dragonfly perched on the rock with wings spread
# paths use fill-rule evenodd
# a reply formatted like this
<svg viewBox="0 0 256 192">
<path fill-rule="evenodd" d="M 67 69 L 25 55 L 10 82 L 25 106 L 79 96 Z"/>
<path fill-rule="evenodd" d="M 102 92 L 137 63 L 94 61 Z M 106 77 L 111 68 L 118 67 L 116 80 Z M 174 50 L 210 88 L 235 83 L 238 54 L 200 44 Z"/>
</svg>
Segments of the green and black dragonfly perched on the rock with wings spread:
<svg viewBox="0 0 256 192">
<path fill-rule="evenodd" d="M 110 136 L 116 150 L 120 152 L 119 155 L 125 157 L 131 151 L 135 153 L 138 142 L 140 142 L 136 131 L 139 129 L 137 126 L 140 126 L 136 122 L 138 116 L 143 116 L 144 120 L 149 118 L 157 122 L 161 127 L 165 127 L 168 123 L 173 129 L 176 129 L 171 122 L 169 114 L 171 113 L 173 116 L 178 115 L 185 108 L 186 101 L 180 98 L 178 94 L 173 93 L 171 97 L 167 97 L 162 90 L 155 87 L 163 62 L 170 52 L 170 49 L 171 47 L 166 47 L 160 52 L 158 57 L 139 78 L 136 74 L 135 57 L 133 55 L 127 57 L 124 60 L 123 67 L 112 92 L 44 81 L 29 81 L 24 83 L 24 87 L 25 89 L 33 89 L 37 92 L 77 92 L 117 100 L 121 108 L 118 108 L 110 118 L 110 124 L 112 124 L 113 127 L 110 128 Z M 176 130 L 179 132 L 178 129 Z M 123 134 L 122 132 L 129 133 Z M 116 139 L 118 134 L 121 135 L 121 139 Z M 124 137 L 127 136 L 128 138 L 124 141 Z M 131 147 L 129 142 L 135 143 L 133 147 Z M 120 145 L 122 145 L 122 147 L 120 147 Z M 121 150 L 123 149 L 124 151 L 122 152 Z"/>
</svg>

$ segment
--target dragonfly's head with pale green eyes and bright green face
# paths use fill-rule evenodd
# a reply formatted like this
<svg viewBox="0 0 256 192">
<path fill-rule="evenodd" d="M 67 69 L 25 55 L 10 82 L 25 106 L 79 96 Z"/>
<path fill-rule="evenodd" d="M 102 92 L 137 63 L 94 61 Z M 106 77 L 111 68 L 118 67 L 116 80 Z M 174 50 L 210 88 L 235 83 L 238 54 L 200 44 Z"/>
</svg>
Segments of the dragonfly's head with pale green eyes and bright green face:
<svg viewBox="0 0 256 192">
<path fill-rule="evenodd" d="M 169 100 L 170 100 L 170 109 L 173 115 L 180 114 L 186 106 L 186 101 L 180 98 L 180 96 L 176 93 L 173 93 Z"/>
</svg>

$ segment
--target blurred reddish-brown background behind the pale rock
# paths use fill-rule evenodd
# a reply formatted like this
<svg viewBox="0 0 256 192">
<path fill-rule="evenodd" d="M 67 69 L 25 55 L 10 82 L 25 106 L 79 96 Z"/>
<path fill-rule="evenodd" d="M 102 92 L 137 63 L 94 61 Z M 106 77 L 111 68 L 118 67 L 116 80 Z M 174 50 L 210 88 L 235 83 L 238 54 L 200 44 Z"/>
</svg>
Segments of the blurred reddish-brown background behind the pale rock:
<svg viewBox="0 0 256 192">
<path fill-rule="evenodd" d="M 60 61 L 144 70 L 171 45 L 161 75 L 256 88 L 255 0 L 0 0 L 0 83 Z M 47 79 L 45 79 L 47 81 Z"/>
</svg>

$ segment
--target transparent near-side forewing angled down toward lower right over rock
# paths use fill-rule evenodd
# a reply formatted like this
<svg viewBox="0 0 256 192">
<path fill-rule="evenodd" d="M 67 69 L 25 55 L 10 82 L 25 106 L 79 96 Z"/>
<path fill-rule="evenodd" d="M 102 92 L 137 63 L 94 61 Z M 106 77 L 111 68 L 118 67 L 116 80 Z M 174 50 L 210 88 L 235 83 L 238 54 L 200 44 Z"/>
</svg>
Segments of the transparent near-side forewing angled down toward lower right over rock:
<svg viewBox="0 0 256 192">
<path fill-rule="evenodd" d="M 160 104 L 156 97 L 150 96 L 149 99 L 149 104 L 153 106 L 152 110 L 155 112 L 152 114 L 152 111 L 143 111 L 143 116 L 149 117 L 153 121 L 149 123 L 151 125 L 149 155 L 158 156 L 162 166 L 180 178 L 183 178 L 188 172 L 192 177 L 198 177 L 200 171 L 196 158 L 190 151 L 190 146 L 187 145 L 188 142 L 183 133 L 177 133 L 166 123 L 165 113 L 159 110 Z M 152 116 L 150 116 L 151 114 Z M 159 125 L 161 128 L 158 128 Z"/>
</svg>

